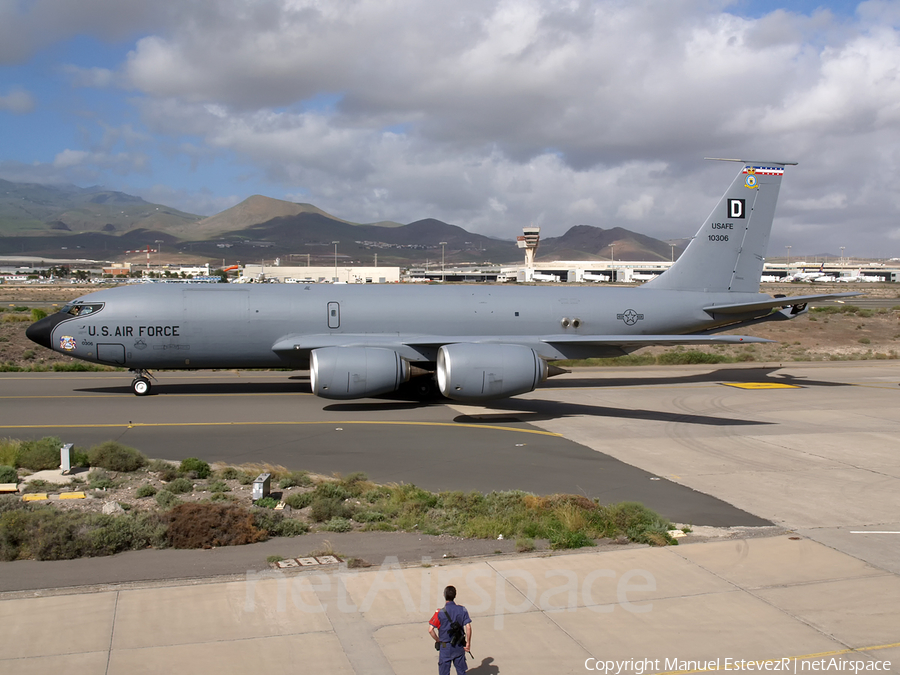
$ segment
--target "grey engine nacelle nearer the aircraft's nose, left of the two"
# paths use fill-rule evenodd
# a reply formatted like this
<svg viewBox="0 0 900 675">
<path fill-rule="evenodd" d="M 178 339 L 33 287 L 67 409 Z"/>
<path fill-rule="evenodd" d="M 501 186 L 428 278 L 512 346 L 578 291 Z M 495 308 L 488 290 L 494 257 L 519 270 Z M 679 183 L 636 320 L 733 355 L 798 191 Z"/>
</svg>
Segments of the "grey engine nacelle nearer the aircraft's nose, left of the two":
<svg viewBox="0 0 900 675">
<path fill-rule="evenodd" d="M 392 349 L 325 347 L 309 358 L 309 381 L 322 398 L 351 399 L 394 391 L 409 379 L 409 363 Z"/>
</svg>

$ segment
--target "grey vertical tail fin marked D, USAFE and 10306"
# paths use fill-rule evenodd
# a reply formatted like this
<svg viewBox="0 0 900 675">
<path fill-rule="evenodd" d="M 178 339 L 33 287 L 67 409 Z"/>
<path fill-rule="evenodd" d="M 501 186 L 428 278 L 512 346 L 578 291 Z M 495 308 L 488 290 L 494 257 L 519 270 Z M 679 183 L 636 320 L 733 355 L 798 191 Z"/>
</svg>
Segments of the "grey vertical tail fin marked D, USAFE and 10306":
<svg viewBox="0 0 900 675">
<path fill-rule="evenodd" d="M 681 257 L 644 288 L 758 293 L 786 165 L 739 159 L 743 168 Z"/>
</svg>

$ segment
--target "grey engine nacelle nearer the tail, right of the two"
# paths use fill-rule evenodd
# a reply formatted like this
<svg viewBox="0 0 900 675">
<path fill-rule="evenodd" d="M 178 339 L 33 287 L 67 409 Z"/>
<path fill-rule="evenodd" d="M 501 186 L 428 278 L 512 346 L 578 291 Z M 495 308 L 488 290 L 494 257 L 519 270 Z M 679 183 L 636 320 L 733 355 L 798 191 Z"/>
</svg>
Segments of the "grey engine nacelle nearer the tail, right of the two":
<svg viewBox="0 0 900 675">
<path fill-rule="evenodd" d="M 438 350 L 438 387 L 456 401 L 524 394 L 534 391 L 547 374 L 547 362 L 522 345 L 458 343 Z"/>
</svg>

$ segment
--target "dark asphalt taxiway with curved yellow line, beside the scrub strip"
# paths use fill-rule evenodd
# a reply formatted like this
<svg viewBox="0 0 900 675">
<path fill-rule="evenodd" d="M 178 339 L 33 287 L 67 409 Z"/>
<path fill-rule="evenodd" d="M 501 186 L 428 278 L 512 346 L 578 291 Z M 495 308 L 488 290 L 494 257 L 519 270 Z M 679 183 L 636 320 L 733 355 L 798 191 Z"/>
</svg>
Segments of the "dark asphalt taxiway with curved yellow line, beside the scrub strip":
<svg viewBox="0 0 900 675">
<path fill-rule="evenodd" d="M 268 463 L 429 490 L 575 493 L 638 501 L 694 525 L 763 526 L 730 504 L 567 440 L 532 422 L 590 415 L 692 426 L 749 427 L 732 416 L 553 402 L 552 390 L 484 409 L 367 399 L 333 402 L 305 376 L 271 372 L 161 373 L 153 395 L 131 393 L 127 373 L 0 375 L 0 434 L 59 436 L 89 447 L 118 440 L 147 456 Z M 678 376 L 673 373 L 677 381 Z M 586 382 L 590 382 L 588 379 Z"/>
</svg>

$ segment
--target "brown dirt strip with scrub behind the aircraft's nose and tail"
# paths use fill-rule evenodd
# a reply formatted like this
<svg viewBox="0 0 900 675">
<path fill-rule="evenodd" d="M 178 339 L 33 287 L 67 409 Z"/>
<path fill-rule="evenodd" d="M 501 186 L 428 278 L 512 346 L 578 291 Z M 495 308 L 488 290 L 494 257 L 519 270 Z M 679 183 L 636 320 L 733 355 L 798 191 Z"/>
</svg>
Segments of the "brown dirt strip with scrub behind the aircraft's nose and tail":
<svg viewBox="0 0 900 675">
<path fill-rule="evenodd" d="M 52 369 L 54 364 L 73 359 L 35 345 L 25 337 L 31 323 L 32 306 L 54 311 L 68 300 L 93 290 L 90 286 L 0 286 L 0 369 Z M 602 293 L 602 289 L 597 289 Z M 861 292 L 865 298 L 886 300 L 885 309 L 863 310 L 857 314 L 810 312 L 793 321 L 768 323 L 734 331 L 743 335 L 776 340 L 776 344 L 711 346 L 703 351 L 747 361 L 828 361 L 845 359 L 898 358 L 900 354 L 900 288 L 894 284 L 766 284 L 764 293 L 804 295 L 811 293 Z M 896 299 L 896 304 L 890 301 Z M 846 304 L 851 305 L 853 299 Z M 28 310 L 14 311 L 16 307 Z M 659 353 L 663 348 L 641 350 Z"/>
</svg>

